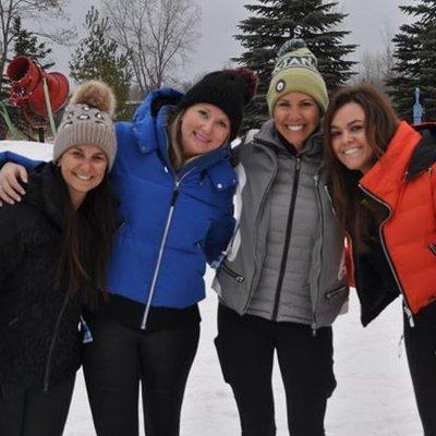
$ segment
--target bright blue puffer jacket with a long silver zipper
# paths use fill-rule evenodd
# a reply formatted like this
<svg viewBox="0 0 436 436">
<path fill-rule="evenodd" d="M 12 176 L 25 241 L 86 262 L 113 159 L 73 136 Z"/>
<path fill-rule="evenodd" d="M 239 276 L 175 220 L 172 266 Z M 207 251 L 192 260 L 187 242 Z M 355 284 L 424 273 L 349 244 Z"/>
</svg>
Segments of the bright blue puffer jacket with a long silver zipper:
<svg viewBox="0 0 436 436">
<path fill-rule="evenodd" d="M 218 258 L 234 227 L 237 175 L 225 146 L 174 173 L 167 114 L 181 94 L 150 93 L 132 122 L 117 123 L 112 185 L 121 226 L 109 266 L 109 291 L 146 305 L 183 308 L 204 299 L 206 261 Z M 26 159 L 1 156 L 29 166 Z M 143 325 L 143 327 L 144 327 Z"/>
</svg>

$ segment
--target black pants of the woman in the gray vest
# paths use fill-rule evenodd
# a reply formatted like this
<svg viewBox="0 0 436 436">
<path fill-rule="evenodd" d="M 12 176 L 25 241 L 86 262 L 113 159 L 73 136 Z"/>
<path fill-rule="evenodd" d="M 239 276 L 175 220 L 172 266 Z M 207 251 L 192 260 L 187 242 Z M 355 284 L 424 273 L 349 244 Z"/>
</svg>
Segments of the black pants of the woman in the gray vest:
<svg viewBox="0 0 436 436">
<path fill-rule="evenodd" d="M 243 436 L 274 436 L 271 373 L 277 350 L 291 436 L 324 436 L 327 398 L 336 387 L 332 334 L 310 326 L 240 316 L 219 305 L 215 340 L 222 373 L 233 389 Z"/>
</svg>

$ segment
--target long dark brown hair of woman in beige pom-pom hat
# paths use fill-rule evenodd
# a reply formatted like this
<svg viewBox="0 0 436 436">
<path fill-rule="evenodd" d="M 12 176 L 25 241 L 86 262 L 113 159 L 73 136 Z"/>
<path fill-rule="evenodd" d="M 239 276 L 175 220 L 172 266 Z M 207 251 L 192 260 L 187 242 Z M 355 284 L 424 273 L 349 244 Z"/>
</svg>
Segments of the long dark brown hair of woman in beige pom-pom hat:
<svg viewBox="0 0 436 436">
<path fill-rule="evenodd" d="M 101 183 L 86 194 L 77 210 L 60 171 L 59 182 L 63 185 L 65 208 L 56 282 L 70 294 L 83 292 L 84 303 L 94 308 L 107 300 L 107 267 L 116 230 L 109 175 L 106 173 Z"/>
</svg>

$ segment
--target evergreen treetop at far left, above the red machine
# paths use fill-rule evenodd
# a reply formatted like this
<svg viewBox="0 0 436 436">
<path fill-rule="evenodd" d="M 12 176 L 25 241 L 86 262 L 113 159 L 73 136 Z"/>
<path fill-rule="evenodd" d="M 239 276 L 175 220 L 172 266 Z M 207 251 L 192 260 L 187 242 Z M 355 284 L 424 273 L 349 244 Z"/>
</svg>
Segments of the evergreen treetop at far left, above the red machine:
<svg viewBox="0 0 436 436">
<path fill-rule="evenodd" d="M 26 56 L 44 70 L 48 70 L 55 65 L 51 59 L 47 57 L 51 53 L 51 48 L 46 46 L 46 43 L 39 43 L 38 37 L 23 28 L 21 16 L 15 16 L 13 23 L 14 29 L 14 56 Z"/>
</svg>

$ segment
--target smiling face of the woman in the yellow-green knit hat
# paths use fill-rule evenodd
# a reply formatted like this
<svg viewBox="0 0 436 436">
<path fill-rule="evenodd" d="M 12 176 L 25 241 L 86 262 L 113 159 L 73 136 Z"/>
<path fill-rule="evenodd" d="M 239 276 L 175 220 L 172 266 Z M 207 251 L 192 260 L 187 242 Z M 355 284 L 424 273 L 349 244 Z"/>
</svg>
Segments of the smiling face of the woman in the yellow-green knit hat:
<svg viewBox="0 0 436 436">
<path fill-rule="evenodd" d="M 280 97 L 272 118 L 279 133 L 296 149 L 303 148 L 319 124 L 319 107 L 307 94 L 292 92 Z"/>
</svg>

